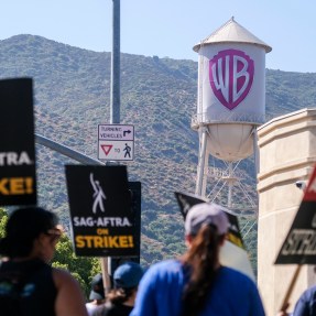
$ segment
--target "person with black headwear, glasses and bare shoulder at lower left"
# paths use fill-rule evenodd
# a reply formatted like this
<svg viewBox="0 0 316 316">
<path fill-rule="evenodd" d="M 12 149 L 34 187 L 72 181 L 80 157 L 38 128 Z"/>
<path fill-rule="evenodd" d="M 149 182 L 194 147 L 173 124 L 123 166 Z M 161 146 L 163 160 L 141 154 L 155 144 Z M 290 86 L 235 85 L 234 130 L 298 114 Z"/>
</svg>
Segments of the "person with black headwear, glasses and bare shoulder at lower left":
<svg viewBox="0 0 316 316">
<path fill-rule="evenodd" d="M 0 239 L 1 316 L 88 316 L 78 282 L 48 264 L 62 232 L 57 217 L 43 208 L 11 214 Z"/>
</svg>

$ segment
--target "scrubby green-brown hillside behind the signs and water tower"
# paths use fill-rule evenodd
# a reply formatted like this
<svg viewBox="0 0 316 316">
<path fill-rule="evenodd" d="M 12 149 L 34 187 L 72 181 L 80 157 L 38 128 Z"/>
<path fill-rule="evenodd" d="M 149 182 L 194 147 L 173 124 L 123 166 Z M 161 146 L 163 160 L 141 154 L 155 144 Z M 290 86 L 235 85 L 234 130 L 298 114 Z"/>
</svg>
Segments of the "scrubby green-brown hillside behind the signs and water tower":
<svg viewBox="0 0 316 316">
<path fill-rule="evenodd" d="M 36 133 L 97 159 L 97 126 L 109 123 L 110 53 L 33 35 L 0 41 L 0 78 L 25 76 L 34 79 Z M 316 74 L 266 69 L 266 117 L 313 107 L 315 81 Z M 173 192 L 195 189 L 198 134 L 190 129 L 190 118 L 196 98 L 197 62 L 121 54 L 121 123 L 135 128 L 135 160 L 127 165 L 129 179 L 143 187 L 144 264 L 184 249 Z M 40 204 L 68 225 L 64 164 L 76 162 L 41 145 L 36 151 Z M 255 199 L 252 159 L 240 164 L 240 173 Z M 247 204 L 238 200 L 238 189 L 235 196 Z M 255 261 L 255 225 L 251 232 L 246 243 Z"/>
</svg>

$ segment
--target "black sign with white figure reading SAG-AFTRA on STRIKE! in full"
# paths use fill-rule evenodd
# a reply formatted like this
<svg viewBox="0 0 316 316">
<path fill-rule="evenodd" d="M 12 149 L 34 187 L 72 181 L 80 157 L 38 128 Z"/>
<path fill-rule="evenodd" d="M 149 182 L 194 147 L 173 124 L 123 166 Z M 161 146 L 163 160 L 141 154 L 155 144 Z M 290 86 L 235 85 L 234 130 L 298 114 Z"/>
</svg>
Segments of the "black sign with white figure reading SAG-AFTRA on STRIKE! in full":
<svg viewBox="0 0 316 316">
<path fill-rule="evenodd" d="M 75 252 L 139 255 L 139 227 L 126 166 L 66 165 Z"/>
</svg>

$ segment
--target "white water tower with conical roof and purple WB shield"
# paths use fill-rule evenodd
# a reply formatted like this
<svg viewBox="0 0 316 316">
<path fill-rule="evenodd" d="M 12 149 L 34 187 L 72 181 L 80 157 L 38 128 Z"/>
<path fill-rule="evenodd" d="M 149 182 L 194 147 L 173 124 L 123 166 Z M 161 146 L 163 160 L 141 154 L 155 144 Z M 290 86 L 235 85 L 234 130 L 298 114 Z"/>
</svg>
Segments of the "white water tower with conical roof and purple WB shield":
<svg viewBox="0 0 316 316">
<path fill-rule="evenodd" d="M 197 115 L 192 120 L 199 133 L 196 194 L 206 196 L 208 175 L 215 174 L 208 166 L 211 155 L 228 166 L 216 173 L 228 186 L 231 207 L 238 181 L 233 165 L 255 154 L 257 127 L 265 121 L 265 54 L 272 48 L 231 18 L 193 50 L 198 53 Z"/>
</svg>

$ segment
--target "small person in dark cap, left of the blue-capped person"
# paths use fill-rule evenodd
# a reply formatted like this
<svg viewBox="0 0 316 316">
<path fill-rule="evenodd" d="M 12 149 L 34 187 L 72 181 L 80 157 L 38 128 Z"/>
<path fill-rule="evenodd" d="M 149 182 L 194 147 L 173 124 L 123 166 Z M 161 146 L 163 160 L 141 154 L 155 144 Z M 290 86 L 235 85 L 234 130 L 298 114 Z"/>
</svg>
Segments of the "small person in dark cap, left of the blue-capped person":
<svg viewBox="0 0 316 316">
<path fill-rule="evenodd" d="M 89 316 L 102 316 L 105 312 L 105 286 L 102 274 L 98 273 L 94 276 L 91 282 L 91 291 L 89 295 L 89 299 L 91 302 L 86 303 L 86 307 Z"/>
</svg>

